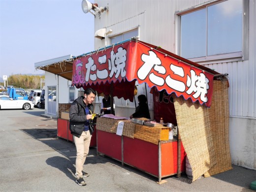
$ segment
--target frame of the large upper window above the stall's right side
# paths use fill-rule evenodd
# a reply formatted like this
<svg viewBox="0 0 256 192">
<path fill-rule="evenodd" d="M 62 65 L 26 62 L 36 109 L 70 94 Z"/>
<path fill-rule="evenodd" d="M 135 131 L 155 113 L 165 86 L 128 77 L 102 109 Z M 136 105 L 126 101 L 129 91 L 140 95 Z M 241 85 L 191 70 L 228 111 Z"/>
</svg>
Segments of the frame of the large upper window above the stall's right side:
<svg viewBox="0 0 256 192">
<path fill-rule="evenodd" d="M 208 6 L 212 6 L 214 4 L 222 3 L 226 0 L 216 0 L 210 3 L 203 3 L 192 8 L 186 9 L 184 11 L 177 11 L 176 14 L 176 21 L 177 21 L 177 53 L 181 55 L 181 16 L 192 13 Z M 243 7 L 243 18 L 242 18 L 242 47 L 240 52 L 235 53 L 226 53 L 220 55 L 213 55 L 213 56 L 205 56 L 205 57 L 198 57 L 198 58 L 191 58 L 189 59 L 195 63 L 204 63 L 204 64 L 213 64 L 213 63 L 220 63 L 220 62 L 233 62 L 233 61 L 244 61 L 248 60 L 248 29 L 249 29 L 249 2 L 247 0 L 242 0 L 242 7 Z M 207 46 L 207 45 L 206 45 Z M 207 49 L 207 47 L 206 47 Z"/>
</svg>

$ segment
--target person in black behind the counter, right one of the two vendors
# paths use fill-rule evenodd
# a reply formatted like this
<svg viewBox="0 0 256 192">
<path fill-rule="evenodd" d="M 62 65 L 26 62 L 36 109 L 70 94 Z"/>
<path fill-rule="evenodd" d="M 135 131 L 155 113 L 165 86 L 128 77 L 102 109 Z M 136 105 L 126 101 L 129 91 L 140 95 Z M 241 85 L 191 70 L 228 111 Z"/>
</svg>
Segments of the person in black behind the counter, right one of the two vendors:
<svg viewBox="0 0 256 192">
<path fill-rule="evenodd" d="M 135 113 L 130 118 L 148 118 L 150 119 L 149 106 L 147 103 L 147 97 L 145 95 L 138 96 L 139 105 L 136 107 Z"/>
</svg>

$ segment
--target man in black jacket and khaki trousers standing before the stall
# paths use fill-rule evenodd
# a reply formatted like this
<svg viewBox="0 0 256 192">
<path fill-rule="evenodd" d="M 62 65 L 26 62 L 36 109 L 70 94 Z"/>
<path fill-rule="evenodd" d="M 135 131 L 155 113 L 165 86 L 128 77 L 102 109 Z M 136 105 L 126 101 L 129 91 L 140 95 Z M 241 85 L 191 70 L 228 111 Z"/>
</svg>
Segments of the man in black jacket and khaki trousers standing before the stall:
<svg viewBox="0 0 256 192">
<path fill-rule="evenodd" d="M 79 96 L 71 104 L 69 110 L 69 129 L 73 134 L 76 146 L 76 183 L 85 186 L 83 177 L 89 177 L 89 174 L 83 172 L 83 165 L 89 153 L 90 142 L 94 132 L 92 122 L 92 111 L 94 111 L 93 101 L 96 97 L 96 91 L 87 88 L 84 96 Z"/>
</svg>

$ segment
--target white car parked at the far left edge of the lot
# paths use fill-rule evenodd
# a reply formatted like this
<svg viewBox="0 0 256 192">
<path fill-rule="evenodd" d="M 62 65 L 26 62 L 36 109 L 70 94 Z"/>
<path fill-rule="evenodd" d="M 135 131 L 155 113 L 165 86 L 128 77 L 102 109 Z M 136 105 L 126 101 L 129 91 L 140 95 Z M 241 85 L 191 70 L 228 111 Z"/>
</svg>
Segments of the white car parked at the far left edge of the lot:
<svg viewBox="0 0 256 192">
<path fill-rule="evenodd" d="M 0 109 L 33 109 L 34 102 L 30 100 L 15 100 L 9 96 L 0 96 Z"/>
</svg>

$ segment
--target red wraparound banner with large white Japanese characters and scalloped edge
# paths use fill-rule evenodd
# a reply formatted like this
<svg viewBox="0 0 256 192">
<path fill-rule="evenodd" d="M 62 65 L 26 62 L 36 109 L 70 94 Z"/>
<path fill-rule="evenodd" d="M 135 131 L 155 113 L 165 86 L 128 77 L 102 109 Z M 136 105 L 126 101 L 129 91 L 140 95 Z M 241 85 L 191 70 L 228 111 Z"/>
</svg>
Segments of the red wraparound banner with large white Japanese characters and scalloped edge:
<svg viewBox="0 0 256 192">
<path fill-rule="evenodd" d="M 213 74 L 186 64 L 142 42 L 128 41 L 73 62 L 73 85 L 77 87 L 137 80 L 167 94 L 211 105 Z M 125 89 L 126 87 L 123 87 Z M 128 90 L 133 93 L 132 90 Z M 122 93 L 117 93 L 118 97 Z M 129 96 L 131 97 L 131 96 Z"/>
</svg>

